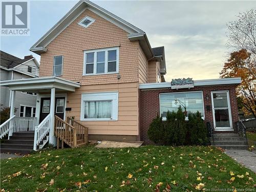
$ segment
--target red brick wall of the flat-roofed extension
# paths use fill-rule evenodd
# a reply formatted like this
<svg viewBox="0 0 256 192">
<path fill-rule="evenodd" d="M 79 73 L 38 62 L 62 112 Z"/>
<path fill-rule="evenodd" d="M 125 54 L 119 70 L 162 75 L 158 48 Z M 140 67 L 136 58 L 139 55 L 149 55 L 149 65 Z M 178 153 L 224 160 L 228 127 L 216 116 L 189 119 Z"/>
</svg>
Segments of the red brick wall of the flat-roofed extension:
<svg viewBox="0 0 256 192">
<path fill-rule="evenodd" d="M 139 91 L 139 140 L 144 141 L 144 144 L 152 143 L 147 137 L 147 130 L 152 120 L 160 115 L 160 93 L 174 93 L 174 92 L 189 92 L 189 91 L 203 91 L 204 114 L 205 122 L 210 121 L 213 124 L 212 105 L 211 105 L 211 91 L 229 91 L 229 99 L 231 106 L 231 118 L 233 129 L 236 130 L 235 122 L 238 121 L 238 107 L 236 99 L 237 85 L 224 86 L 210 86 L 210 87 L 195 87 L 191 89 L 154 89 L 154 90 L 140 90 Z M 208 99 L 206 99 L 208 96 Z M 206 106 L 210 106 L 207 111 Z"/>
</svg>

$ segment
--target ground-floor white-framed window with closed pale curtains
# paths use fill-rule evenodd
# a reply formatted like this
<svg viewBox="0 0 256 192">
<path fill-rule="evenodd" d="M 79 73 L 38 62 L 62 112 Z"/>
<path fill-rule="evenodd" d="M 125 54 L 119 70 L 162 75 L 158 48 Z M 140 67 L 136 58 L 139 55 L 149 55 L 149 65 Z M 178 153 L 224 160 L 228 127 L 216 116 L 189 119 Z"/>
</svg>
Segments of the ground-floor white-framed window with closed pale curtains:
<svg viewBox="0 0 256 192">
<path fill-rule="evenodd" d="M 118 92 L 84 93 L 81 99 L 81 121 L 117 120 Z"/>
</svg>

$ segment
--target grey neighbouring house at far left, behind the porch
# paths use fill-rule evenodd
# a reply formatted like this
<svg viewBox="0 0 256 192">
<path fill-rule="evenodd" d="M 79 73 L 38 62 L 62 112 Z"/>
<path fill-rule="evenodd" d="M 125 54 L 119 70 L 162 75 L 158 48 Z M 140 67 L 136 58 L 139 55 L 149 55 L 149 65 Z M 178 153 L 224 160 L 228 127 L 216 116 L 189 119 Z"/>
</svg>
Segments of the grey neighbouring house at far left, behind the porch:
<svg viewBox="0 0 256 192">
<path fill-rule="evenodd" d="M 25 56 L 20 59 L 4 51 L 0 51 L 0 73 L 1 81 L 35 78 L 39 75 L 39 63 L 32 56 Z M 10 106 L 10 90 L 7 87 L 0 87 L 1 101 L 3 107 Z M 36 94 L 31 92 L 16 92 L 15 108 L 17 117 L 35 117 Z"/>
</svg>

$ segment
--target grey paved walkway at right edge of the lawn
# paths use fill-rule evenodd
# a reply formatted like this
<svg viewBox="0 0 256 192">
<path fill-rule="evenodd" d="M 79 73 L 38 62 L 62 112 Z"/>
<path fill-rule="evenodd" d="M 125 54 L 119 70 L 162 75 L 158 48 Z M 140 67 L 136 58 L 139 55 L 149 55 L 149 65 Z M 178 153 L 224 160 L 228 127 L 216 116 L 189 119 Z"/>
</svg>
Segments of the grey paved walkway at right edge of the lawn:
<svg viewBox="0 0 256 192">
<path fill-rule="evenodd" d="M 254 173 L 256 173 L 256 152 L 249 152 L 246 150 L 227 150 L 226 153 L 232 159 L 236 160 L 240 164 L 246 166 L 251 169 Z"/>
</svg>

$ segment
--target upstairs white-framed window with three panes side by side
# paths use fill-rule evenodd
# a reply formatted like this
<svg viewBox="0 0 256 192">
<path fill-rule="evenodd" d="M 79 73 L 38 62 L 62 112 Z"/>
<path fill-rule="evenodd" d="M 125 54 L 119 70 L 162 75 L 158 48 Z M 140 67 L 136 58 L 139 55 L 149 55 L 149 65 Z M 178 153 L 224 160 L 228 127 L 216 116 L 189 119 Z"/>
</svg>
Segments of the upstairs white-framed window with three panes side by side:
<svg viewBox="0 0 256 192">
<path fill-rule="evenodd" d="M 119 47 L 84 51 L 83 75 L 118 73 Z"/>
</svg>

